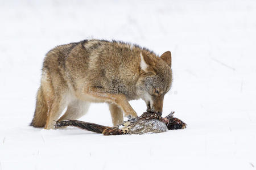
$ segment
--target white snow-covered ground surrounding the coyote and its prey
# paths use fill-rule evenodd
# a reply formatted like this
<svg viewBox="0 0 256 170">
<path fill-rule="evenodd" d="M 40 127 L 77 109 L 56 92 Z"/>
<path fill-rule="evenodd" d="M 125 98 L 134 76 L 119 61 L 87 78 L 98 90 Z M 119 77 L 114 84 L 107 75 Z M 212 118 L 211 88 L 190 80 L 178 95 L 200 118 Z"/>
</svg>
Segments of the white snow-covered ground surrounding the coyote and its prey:
<svg viewBox="0 0 256 170">
<path fill-rule="evenodd" d="M 0 1 L 0 169 L 256 167 L 256 2 Z M 116 39 L 172 52 L 163 115 L 185 130 L 105 137 L 28 126 L 47 51 Z M 141 114 L 142 100 L 131 101 Z M 112 125 L 106 104 L 81 120 Z"/>
</svg>

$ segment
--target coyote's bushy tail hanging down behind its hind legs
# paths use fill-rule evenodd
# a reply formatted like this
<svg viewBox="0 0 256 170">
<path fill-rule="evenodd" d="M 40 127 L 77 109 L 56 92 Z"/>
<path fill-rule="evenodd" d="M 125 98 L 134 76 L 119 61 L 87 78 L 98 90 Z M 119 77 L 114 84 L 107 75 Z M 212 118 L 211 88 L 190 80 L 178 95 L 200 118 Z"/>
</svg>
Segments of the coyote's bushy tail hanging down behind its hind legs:
<svg viewBox="0 0 256 170">
<path fill-rule="evenodd" d="M 30 126 L 34 126 L 35 128 L 42 128 L 46 125 L 47 118 L 47 104 L 46 99 L 44 98 L 42 86 L 38 89 L 38 94 L 36 96 L 36 108 L 34 113 L 34 118 L 30 124 Z"/>
</svg>

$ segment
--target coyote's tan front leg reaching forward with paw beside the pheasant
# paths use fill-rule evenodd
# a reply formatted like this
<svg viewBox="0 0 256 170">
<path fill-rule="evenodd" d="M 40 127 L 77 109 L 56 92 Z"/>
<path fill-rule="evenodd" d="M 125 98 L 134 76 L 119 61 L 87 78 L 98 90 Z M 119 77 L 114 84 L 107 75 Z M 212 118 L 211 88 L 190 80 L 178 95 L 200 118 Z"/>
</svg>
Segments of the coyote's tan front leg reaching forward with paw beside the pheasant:
<svg viewBox="0 0 256 170">
<path fill-rule="evenodd" d="M 119 108 L 122 109 L 123 113 L 125 114 L 125 117 L 137 117 L 137 113 L 131 107 L 128 100 L 126 99 L 126 96 L 123 94 L 111 94 L 109 92 L 106 92 L 104 88 L 98 87 L 86 88 L 85 94 L 93 96 L 97 99 L 104 100 L 108 103 L 116 104 Z"/>
</svg>

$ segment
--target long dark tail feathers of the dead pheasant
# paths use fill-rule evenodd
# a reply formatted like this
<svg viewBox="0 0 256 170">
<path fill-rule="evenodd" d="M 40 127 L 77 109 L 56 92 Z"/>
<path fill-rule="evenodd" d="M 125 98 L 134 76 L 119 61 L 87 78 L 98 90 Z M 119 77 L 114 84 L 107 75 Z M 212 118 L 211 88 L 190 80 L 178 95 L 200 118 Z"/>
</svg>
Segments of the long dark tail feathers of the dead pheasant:
<svg viewBox="0 0 256 170">
<path fill-rule="evenodd" d="M 55 125 L 56 128 L 60 128 L 64 126 L 76 126 L 81 129 L 93 131 L 95 133 L 102 133 L 105 129 L 110 128 L 109 126 L 102 126 L 102 125 L 92 124 L 89 122 L 82 122 L 78 120 L 59 121 L 59 122 L 56 122 L 56 125 Z"/>
</svg>

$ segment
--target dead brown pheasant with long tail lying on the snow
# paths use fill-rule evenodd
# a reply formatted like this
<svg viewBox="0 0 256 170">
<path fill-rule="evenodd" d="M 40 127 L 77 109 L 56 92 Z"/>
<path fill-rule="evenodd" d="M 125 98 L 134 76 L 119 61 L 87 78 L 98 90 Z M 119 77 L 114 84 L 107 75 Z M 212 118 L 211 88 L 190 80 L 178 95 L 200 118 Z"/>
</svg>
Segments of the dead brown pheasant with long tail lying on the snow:
<svg viewBox="0 0 256 170">
<path fill-rule="evenodd" d="M 173 117 L 171 112 L 166 117 L 162 117 L 157 113 L 144 112 L 140 117 L 134 120 L 128 120 L 123 124 L 109 127 L 78 120 L 66 120 L 56 122 L 55 127 L 76 126 L 81 129 L 102 133 L 104 135 L 121 135 L 121 134 L 145 134 L 160 133 L 173 129 L 185 129 L 187 124 L 178 118 Z"/>
</svg>

